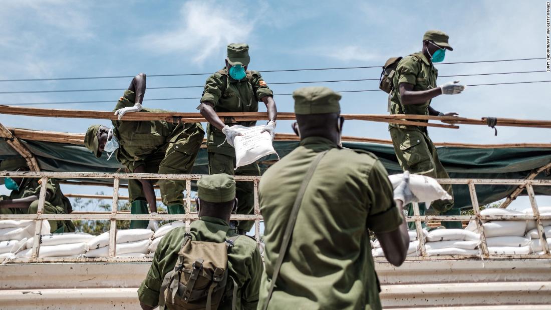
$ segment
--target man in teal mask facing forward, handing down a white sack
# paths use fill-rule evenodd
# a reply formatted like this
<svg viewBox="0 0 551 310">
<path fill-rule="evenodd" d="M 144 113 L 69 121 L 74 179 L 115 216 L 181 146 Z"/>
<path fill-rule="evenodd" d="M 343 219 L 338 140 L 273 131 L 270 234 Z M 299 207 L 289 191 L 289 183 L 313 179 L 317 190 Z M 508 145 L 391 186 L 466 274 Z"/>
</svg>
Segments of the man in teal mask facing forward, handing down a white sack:
<svg viewBox="0 0 551 310">
<path fill-rule="evenodd" d="M 258 102 L 262 101 L 268 110 L 268 123 L 263 130 L 274 137 L 277 108 L 272 90 L 257 71 L 249 71 L 249 46 L 232 43 L 228 45 L 226 66 L 207 79 L 197 107 L 207 121 L 207 149 L 209 172 L 228 173 L 236 176 L 258 176 L 260 168 L 253 163 L 235 168 L 235 149 L 233 140 L 240 135 L 231 126 L 251 127 L 256 121 L 235 122 L 231 118 L 220 118 L 217 112 L 258 112 Z M 237 214 L 252 214 L 254 210 L 252 182 L 237 182 Z M 246 233 L 253 222 L 241 221 L 237 224 L 239 233 Z"/>
</svg>

